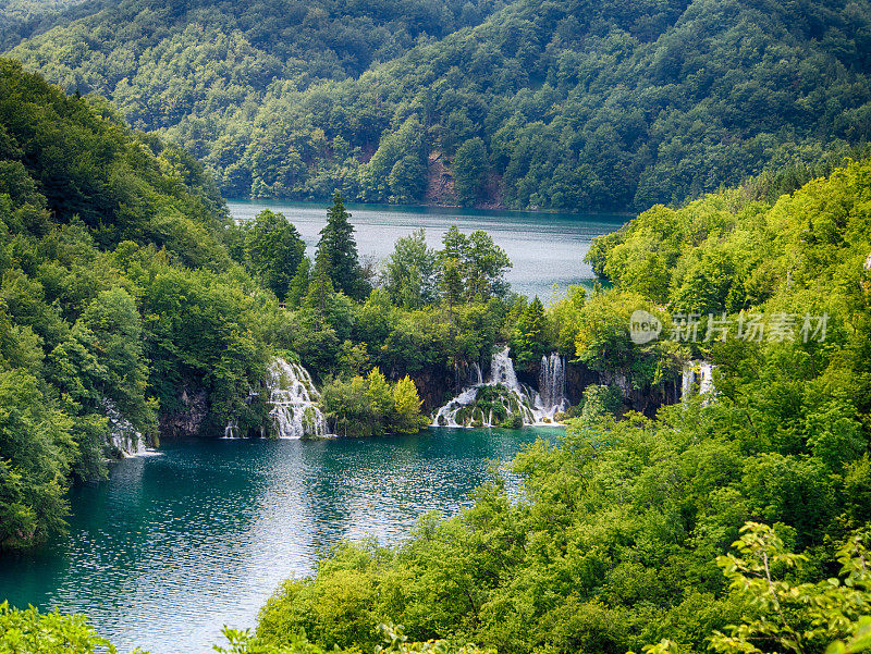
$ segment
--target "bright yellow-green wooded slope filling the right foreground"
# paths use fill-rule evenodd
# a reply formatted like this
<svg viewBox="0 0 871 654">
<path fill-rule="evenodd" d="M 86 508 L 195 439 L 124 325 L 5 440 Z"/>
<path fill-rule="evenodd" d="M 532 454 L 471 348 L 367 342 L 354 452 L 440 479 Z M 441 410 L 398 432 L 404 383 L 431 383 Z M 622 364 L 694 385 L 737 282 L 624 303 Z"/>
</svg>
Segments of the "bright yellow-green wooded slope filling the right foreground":
<svg viewBox="0 0 871 654">
<path fill-rule="evenodd" d="M 565 439 L 513 462 L 519 498 L 496 479 L 400 547 L 335 547 L 269 601 L 252 651 L 378 651 L 380 622 L 516 654 L 868 651 L 871 163 L 751 196 L 650 209 L 599 242 L 615 287 L 543 319 L 545 347 L 594 369 L 637 384 L 707 360 L 713 390 L 650 419 L 588 387 Z M 630 341 L 639 308 L 658 341 Z"/>
</svg>

